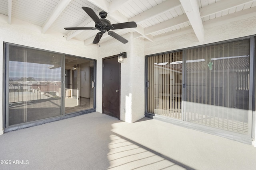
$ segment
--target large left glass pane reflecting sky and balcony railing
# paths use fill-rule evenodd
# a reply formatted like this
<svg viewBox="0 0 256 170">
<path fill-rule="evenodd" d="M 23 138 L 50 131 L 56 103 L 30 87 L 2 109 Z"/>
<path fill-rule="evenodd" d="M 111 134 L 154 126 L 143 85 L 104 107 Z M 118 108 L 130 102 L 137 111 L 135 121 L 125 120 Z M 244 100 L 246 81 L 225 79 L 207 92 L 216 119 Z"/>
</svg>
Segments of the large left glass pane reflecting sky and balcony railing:
<svg viewBox="0 0 256 170">
<path fill-rule="evenodd" d="M 13 45 L 8 51 L 8 126 L 61 115 L 61 55 Z"/>
</svg>

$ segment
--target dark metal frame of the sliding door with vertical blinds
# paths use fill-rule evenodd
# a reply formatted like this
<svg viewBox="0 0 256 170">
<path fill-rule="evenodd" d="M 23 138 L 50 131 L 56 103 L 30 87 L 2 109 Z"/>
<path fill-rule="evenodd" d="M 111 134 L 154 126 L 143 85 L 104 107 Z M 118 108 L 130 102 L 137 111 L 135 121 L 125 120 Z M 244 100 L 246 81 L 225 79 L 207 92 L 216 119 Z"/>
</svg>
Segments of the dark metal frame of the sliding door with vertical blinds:
<svg viewBox="0 0 256 170">
<path fill-rule="evenodd" d="M 236 132 L 232 132 L 232 131 L 225 131 L 222 129 L 217 129 L 214 127 L 208 127 L 206 125 L 200 125 L 200 124 L 195 124 L 195 123 L 190 123 L 190 122 L 186 122 L 184 121 L 185 118 L 185 114 L 186 114 L 186 50 L 188 49 L 194 49 L 194 48 L 199 48 L 199 47 L 207 47 L 210 45 L 218 45 L 221 43 L 229 43 L 229 42 L 233 42 L 233 41 L 239 41 L 239 40 L 243 40 L 243 39 L 250 39 L 250 67 L 249 67 L 249 113 L 251 113 L 250 117 L 248 117 L 249 121 L 248 121 L 248 135 L 244 135 L 244 134 L 239 134 Z M 182 119 L 180 120 L 174 120 L 170 117 L 165 117 L 162 115 L 156 115 L 154 113 L 148 113 L 148 86 L 152 85 L 152 84 L 148 84 L 148 58 L 152 57 L 152 56 L 156 56 L 156 55 L 163 55 L 166 53 L 174 53 L 177 51 L 182 51 Z M 184 48 L 184 49 L 179 49 L 179 50 L 175 50 L 175 51 L 167 51 L 164 53 L 156 53 L 156 54 L 152 54 L 152 55 L 146 55 L 145 56 L 145 116 L 152 118 L 152 119 L 159 119 L 162 121 L 166 121 L 168 123 L 172 123 L 175 125 L 180 125 L 183 127 L 188 127 L 191 129 L 195 129 L 195 130 L 199 130 L 199 131 L 203 131 L 206 133 L 211 133 L 214 135 L 219 135 L 222 137 L 226 137 L 228 139 L 233 139 L 236 141 L 240 141 L 243 143 L 248 143 L 251 144 L 251 141 L 254 140 L 256 137 L 256 35 L 251 35 L 251 36 L 247 36 L 247 37 L 240 37 L 240 38 L 236 38 L 236 39 L 230 39 L 230 40 L 226 40 L 226 41 L 220 41 L 220 42 L 216 42 L 216 43 L 210 43 L 210 44 L 205 44 L 205 45 L 200 45 L 200 46 L 195 46 L 195 47 L 188 47 L 188 48 Z M 213 130 L 214 129 L 214 130 Z M 230 136 L 231 135 L 231 136 Z M 233 135 L 233 137 L 232 137 Z M 247 137 L 246 137 L 247 136 Z"/>
</svg>

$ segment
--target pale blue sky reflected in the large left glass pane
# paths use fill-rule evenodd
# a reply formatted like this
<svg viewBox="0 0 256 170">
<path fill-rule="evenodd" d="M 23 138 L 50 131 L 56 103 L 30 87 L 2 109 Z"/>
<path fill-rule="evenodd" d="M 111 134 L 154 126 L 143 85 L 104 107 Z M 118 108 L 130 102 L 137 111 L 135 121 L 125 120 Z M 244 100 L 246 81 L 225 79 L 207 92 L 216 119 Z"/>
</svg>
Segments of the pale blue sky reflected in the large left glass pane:
<svg viewBox="0 0 256 170">
<path fill-rule="evenodd" d="M 35 79 L 43 80 L 60 80 L 61 68 L 50 69 L 52 64 L 38 64 L 38 63 L 24 63 L 19 61 L 9 62 L 9 77 L 33 77 Z"/>
</svg>

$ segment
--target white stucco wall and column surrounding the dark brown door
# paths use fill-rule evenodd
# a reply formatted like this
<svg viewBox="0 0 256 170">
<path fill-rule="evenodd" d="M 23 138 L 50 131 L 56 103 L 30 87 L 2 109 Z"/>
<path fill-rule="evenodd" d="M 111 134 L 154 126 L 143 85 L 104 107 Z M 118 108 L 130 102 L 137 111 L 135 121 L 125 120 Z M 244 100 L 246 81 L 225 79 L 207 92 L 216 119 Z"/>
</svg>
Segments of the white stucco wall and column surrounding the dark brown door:
<svg viewBox="0 0 256 170">
<path fill-rule="evenodd" d="M 126 52 L 121 63 L 120 119 L 132 123 L 144 117 L 144 40 L 133 39 L 133 33 L 123 37 L 129 42 L 112 39 L 98 46 L 96 111 L 102 113 L 102 59 Z"/>
</svg>

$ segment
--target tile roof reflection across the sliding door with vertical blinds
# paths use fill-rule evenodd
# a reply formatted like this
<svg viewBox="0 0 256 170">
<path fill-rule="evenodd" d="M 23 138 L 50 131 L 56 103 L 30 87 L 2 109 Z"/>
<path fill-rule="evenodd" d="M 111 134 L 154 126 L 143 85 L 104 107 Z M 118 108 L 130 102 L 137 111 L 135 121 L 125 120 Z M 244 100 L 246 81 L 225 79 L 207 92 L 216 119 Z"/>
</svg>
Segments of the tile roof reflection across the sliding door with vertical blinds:
<svg viewBox="0 0 256 170">
<path fill-rule="evenodd" d="M 212 60 L 212 70 L 228 70 L 228 69 L 248 69 L 250 57 L 238 57 L 232 59 Z M 206 61 L 186 63 L 186 71 L 205 71 L 209 69 Z M 182 72 L 182 63 L 180 64 L 166 64 L 160 67 L 170 68 Z"/>
</svg>

